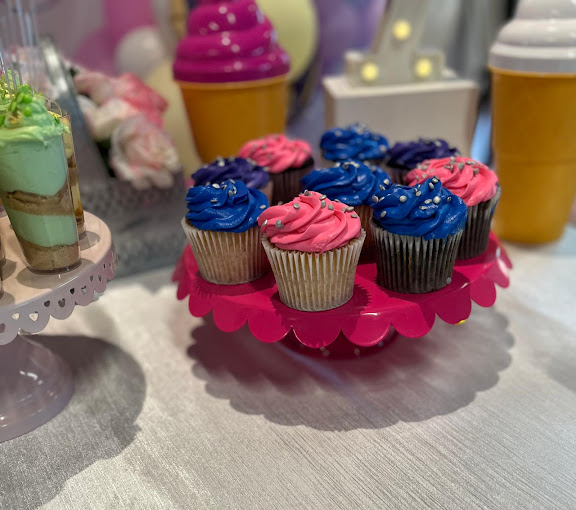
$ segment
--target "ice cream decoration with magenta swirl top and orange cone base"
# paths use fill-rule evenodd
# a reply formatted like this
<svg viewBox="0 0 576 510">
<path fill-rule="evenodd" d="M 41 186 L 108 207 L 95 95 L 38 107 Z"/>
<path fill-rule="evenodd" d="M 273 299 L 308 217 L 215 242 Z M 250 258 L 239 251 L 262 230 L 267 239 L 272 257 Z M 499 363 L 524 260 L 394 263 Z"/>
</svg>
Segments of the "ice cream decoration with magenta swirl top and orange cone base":
<svg viewBox="0 0 576 510">
<path fill-rule="evenodd" d="M 255 0 L 198 0 L 178 45 L 180 86 L 205 163 L 286 127 L 288 54 Z"/>
</svg>

